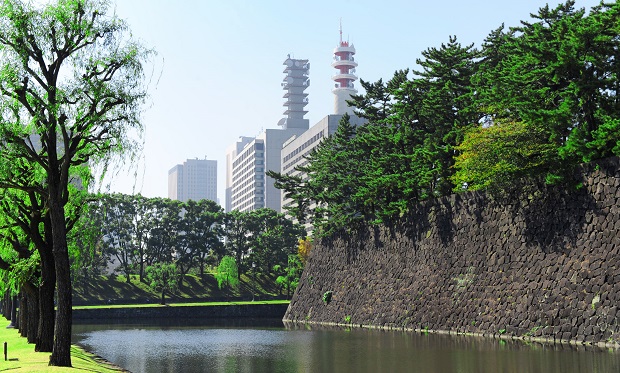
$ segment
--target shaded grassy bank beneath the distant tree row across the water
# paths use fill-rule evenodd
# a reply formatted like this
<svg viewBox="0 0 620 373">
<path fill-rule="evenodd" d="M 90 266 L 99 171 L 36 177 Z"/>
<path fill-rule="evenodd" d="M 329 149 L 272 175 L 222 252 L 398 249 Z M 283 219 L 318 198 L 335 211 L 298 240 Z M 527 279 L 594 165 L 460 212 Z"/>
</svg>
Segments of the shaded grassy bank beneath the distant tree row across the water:
<svg viewBox="0 0 620 373">
<path fill-rule="evenodd" d="M 82 305 L 152 304 L 159 303 L 161 294 L 140 282 L 137 276 L 127 281 L 124 276 L 97 276 L 74 283 L 73 303 Z M 204 277 L 186 275 L 178 290 L 166 294 L 166 303 L 269 300 L 283 297 L 275 278 L 242 275 L 236 288 L 219 289 L 212 274 Z"/>
</svg>

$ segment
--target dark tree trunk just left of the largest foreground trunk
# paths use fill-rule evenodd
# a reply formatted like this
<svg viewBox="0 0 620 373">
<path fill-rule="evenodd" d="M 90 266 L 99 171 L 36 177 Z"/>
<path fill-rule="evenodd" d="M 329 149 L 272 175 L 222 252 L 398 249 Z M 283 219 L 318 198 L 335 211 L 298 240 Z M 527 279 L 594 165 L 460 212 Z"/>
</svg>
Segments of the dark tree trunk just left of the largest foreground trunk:
<svg viewBox="0 0 620 373">
<path fill-rule="evenodd" d="M 47 242 L 51 242 L 51 230 L 47 233 Z M 52 352 L 54 348 L 54 290 L 56 289 L 56 272 L 54 270 L 54 257 L 50 247 L 40 250 L 41 256 L 41 285 L 39 285 L 39 329 L 35 351 Z"/>
</svg>

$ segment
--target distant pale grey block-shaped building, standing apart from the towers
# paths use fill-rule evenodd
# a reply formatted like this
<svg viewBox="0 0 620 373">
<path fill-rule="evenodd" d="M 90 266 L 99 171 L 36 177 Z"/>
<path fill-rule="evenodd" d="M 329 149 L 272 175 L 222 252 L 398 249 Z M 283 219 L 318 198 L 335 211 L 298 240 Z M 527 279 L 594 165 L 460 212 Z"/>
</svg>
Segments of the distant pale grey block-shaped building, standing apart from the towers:
<svg viewBox="0 0 620 373">
<path fill-rule="evenodd" d="M 182 202 L 217 200 L 217 161 L 188 159 L 168 171 L 168 198 Z"/>
</svg>

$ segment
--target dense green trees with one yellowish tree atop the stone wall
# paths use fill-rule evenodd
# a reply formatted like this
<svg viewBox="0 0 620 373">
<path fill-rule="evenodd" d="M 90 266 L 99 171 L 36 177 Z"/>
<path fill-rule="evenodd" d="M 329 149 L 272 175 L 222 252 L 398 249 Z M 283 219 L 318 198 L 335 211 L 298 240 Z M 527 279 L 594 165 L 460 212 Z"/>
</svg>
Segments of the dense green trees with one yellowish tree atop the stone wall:
<svg viewBox="0 0 620 373">
<path fill-rule="evenodd" d="M 620 3 L 589 12 L 546 6 L 480 48 L 450 37 L 418 71 L 361 81 L 344 116 L 298 167 L 270 172 L 289 214 L 321 235 L 398 218 L 419 201 L 562 179 L 577 163 L 620 155 Z M 297 174 L 297 175 L 299 175 Z"/>
</svg>

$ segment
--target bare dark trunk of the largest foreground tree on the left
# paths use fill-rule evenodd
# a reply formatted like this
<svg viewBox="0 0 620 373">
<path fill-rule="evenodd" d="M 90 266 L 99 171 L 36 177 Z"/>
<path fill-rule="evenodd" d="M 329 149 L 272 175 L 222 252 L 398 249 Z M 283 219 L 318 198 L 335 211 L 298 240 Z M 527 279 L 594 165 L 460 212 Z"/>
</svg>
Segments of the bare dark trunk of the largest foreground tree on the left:
<svg viewBox="0 0 620 373">
<path fill-rule="evenodd" d="M 52 184 L 52 183 L 50 183 Z M 54 347 L 50 356 L 53 366 L 71 366 L 71 308 L 73 305 L 71 291 L 71 271 L 69 251 L 67 248 L 67 227 L 64 208 L 60 202 L 61 193 L 58 185 L 50 185 L 49 204 L 52 223 L 54 268 L 56 271 L 56 289 L 58 294 L 56 323 L 54 326 Z"/>
</svg>

